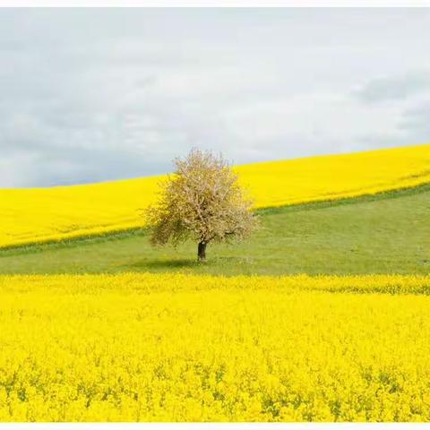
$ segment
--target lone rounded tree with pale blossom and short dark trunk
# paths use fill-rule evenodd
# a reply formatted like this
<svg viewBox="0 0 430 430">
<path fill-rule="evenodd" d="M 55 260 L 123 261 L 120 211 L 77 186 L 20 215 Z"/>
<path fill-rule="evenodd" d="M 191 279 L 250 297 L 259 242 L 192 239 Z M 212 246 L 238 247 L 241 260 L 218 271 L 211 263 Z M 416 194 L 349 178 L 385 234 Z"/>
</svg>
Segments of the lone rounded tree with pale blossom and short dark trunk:
<svg viewBox="0 0 430 430">
<path fill-rule="evenodd" d="M 243 239 L 256 227 L 252 201 L 222 156 L 193 149 L 174 164 L 173 175 L 160 185 L 159 202 L 144 212 L 152 245 L 192 239 L 204 261 L 209 243 Z"/>
</svg>

